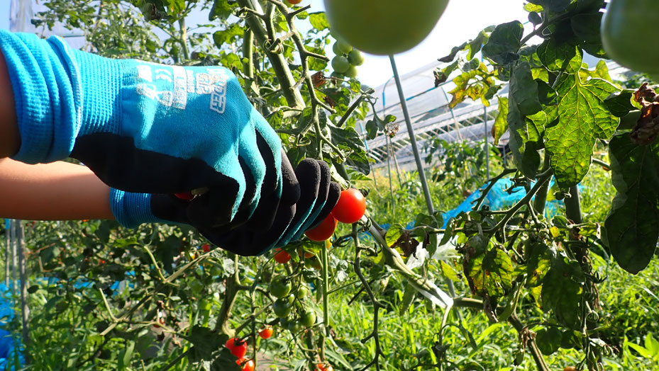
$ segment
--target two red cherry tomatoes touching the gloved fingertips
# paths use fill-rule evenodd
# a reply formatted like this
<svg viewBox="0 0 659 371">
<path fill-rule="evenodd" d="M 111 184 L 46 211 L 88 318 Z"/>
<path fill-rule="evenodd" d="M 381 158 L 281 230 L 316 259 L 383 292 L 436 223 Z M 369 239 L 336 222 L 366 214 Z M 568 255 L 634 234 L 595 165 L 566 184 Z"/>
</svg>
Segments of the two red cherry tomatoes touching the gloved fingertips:
<svg viewBox="0 0 659 371">
<path fill-rule="evenodd" d="M 328 215 L 317 227 L 304 234 L 311 241 L 325 241 L 329 239 L 338 222 L 353 224 L 358 222 L 366 212 L 366 198 L 355 188 L 348 188 L 341 192 L 341 196 Z"/>
</svg>

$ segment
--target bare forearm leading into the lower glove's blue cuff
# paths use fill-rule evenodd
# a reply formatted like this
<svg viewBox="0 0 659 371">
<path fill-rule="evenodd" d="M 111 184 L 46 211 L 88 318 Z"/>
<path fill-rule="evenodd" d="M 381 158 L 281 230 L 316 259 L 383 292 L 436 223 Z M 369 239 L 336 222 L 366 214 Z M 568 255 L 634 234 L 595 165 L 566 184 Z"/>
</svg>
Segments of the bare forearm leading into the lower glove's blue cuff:
<svg viewBox="0 0 659 371">
<path fill-rule="evenodd" d="M 0 217 L 114 219 L 109 194 L 110 188 L 85 166 L 0 159 Z"/>
</svg>

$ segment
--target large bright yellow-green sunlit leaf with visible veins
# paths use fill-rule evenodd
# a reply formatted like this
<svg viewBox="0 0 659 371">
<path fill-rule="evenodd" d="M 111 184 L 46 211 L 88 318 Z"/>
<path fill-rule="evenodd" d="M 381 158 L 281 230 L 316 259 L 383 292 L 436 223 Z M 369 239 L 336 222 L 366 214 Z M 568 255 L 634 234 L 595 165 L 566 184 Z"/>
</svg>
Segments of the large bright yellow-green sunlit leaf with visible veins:
<svg viewBox="0 0 659 371">
<path fill-rule="evenodd" d="M 618 126 L 604 104 L 617 88 L 602 79 L 582 83 L 578 75 L 568 75 L 556 90 L 560 99 L 548 117 L 558 121 L 546 128 L 545 148 L 558 186 L 570 188 L 588 173 L 595 141 L 609 139 Z"/>
</svg>

